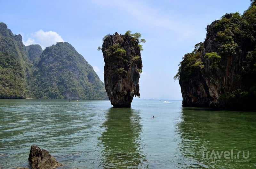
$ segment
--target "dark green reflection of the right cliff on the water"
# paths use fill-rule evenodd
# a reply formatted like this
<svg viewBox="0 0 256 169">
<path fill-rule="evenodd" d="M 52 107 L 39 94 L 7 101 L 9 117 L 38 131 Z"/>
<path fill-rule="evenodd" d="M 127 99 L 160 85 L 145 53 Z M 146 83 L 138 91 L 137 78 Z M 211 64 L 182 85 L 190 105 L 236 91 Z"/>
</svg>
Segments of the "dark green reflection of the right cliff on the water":
<svg viewBox="0 0 256 169">
<path fill-rule="evenodd" d="M 254 112 L 183 108 L 182 120 L 177 124 L 181 163 L 189 168 L 255 166 L 255 120 Z"/>
</svg>

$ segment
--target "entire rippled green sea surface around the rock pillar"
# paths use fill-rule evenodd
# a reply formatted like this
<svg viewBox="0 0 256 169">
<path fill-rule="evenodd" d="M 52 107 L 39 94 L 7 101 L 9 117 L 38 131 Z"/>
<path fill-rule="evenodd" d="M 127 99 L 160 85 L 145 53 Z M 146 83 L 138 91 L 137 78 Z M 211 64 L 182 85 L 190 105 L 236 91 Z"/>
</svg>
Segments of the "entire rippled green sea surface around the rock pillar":
<svg viewBox="0 0 256 169">
<path fill-rule="evenodd" d="M 0 100 L 0 168 L 28 167 L 31 145 L 65 169 L 256 168 L 256 113 L 175 100 Z"/>
</svg>

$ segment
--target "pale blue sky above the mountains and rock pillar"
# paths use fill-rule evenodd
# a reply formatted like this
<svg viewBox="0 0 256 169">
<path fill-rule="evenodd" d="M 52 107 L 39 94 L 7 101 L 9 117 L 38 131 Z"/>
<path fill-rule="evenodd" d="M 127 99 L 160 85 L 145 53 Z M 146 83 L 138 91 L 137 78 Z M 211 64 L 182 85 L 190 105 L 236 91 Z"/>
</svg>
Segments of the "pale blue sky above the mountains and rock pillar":
<svg viewBox="0 0 256 169">
<path fill-rule="evenodd" d="M 248 9 L 250 0 L 0 0 L 0 22 L 21 34 L 25 46 L 43 50 L 68 42 L 104 82 L 98 46 L 107 34 L 139 32 L 142 43 L 140 99 L 181 100 L 173 76 L 186 53 L 204 42 L 205 28 L 225 13 Z"/>
</svg>

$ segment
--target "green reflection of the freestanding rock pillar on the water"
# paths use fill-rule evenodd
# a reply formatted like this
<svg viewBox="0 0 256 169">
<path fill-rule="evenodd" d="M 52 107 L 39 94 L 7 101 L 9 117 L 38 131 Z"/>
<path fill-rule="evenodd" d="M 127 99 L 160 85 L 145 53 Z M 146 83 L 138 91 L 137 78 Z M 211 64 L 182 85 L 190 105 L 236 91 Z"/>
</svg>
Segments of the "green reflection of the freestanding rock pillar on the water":
<svg viewBox="0 0 256 169">
<path fill-rule="evenodd" d="M 104 168 L 138 167 L 142 163 L 140 151 L 140 116 L 131 108 L 111 108 L 105 128 L 99 138 L 103 145 L 101 166 Z"/>
</svg>

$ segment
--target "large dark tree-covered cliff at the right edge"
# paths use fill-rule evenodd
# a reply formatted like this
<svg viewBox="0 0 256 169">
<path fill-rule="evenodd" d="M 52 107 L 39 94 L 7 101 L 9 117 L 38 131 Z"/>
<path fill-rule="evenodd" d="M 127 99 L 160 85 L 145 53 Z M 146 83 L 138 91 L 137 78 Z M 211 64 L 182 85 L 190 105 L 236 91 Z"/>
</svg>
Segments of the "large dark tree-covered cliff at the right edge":
<svg viewBox="0 0 256 169">
<path fill-rule="evenodd" d="M 256 1 L 241 15 L 225 14 L 207 26 L 204 42 L 184 55 L 178 73 L 184 107 L 256 106 Z"/>
</svg>

